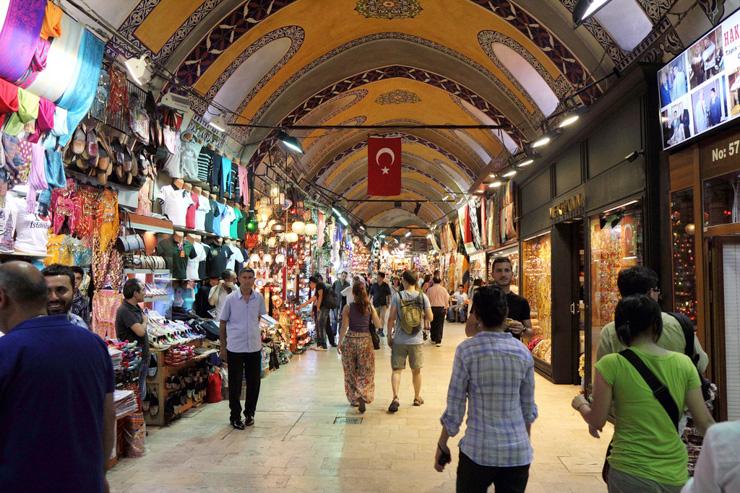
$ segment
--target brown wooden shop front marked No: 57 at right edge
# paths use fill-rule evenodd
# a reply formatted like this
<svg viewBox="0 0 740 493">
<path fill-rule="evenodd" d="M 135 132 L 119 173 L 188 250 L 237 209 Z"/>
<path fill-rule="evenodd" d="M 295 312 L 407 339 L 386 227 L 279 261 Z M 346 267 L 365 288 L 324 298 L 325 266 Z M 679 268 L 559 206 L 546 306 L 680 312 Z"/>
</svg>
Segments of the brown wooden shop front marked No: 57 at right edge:
<svg viewBox="0 0 740 493">
<path fill-rule="evenodd" d="M 740 126 L 669 162 L 674 305 L 696 321 L 719 418 L 740 419 Z"/>
</svg>

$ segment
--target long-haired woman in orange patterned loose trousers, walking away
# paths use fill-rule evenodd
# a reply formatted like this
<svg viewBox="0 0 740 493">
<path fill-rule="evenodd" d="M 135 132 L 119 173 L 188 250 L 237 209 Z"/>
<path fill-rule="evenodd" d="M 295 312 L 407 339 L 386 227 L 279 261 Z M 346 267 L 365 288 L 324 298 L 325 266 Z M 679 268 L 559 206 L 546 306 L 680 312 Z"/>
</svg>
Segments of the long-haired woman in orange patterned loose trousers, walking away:
<svg viewBox="0 0 740 493">
<path fill-rule="evenodd" d="M 373 340 L 375 327 L 380 327 L 378 313 L 370 303 L 367 288 L 362 281 L 352 285 L 354 301 L 342 310 L 342 330 L 339 334 L 339 352 L 344 367 L 344 392 L 347 399 L 361 413 L 375 398 L 375 354 Z M 379 345 L 378 340 L 378 345 Z"/>
</svg>

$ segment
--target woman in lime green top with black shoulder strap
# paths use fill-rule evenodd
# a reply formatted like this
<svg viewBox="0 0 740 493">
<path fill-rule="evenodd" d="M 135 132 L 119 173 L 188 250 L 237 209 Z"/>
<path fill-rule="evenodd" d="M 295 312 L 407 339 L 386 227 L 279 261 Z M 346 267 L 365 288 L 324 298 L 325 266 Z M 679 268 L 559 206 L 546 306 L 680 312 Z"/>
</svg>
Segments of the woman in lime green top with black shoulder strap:
<svg viewBox="0 0 740 493">
<path fill-rule="evenodd" d="M 679 410 L 688 408 L 702 435 L 714 423 L 699 375 L 688 356 L 656 344 L 663 320 L 660 306 L 649 296 L 623 298 L 615 324 L 627 349 L 596 363 L 593 402 L 578 395 L 573 408 L 598 438 L 614 407 L 614 439 L 604 466 L 609 493 L 679 493 L 688 481 Z"/>
</svg>

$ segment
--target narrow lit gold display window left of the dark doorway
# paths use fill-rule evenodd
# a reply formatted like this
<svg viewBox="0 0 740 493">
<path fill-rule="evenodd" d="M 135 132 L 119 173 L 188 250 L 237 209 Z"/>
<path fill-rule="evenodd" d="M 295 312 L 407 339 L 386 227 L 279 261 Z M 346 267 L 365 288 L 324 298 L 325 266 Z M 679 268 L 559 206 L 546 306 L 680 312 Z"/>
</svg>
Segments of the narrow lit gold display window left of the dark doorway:
<svg viewBox="0 0 740 493">
<path fill-rule="evenodd" d="M 534 331 L 530 350 L 547 364 L 552 360 L 551 255 L 549 233 L 522 243 L 521 295 L 529 301 Z"/>
</svg>

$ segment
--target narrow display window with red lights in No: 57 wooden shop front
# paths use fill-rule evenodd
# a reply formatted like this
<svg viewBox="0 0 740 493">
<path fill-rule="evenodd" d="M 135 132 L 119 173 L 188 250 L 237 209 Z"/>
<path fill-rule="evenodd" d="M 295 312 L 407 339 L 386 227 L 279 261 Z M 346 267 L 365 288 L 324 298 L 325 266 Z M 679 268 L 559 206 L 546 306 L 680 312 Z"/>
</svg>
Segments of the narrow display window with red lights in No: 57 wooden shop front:
<svg viewBox="0 0 740 493">
<path fill-rule="evenodd" d="M 696 323 L 696 260 L 694 192 L 671 193 L 671 242 L 673 244 L 673 306 Z"/>
</svg>

